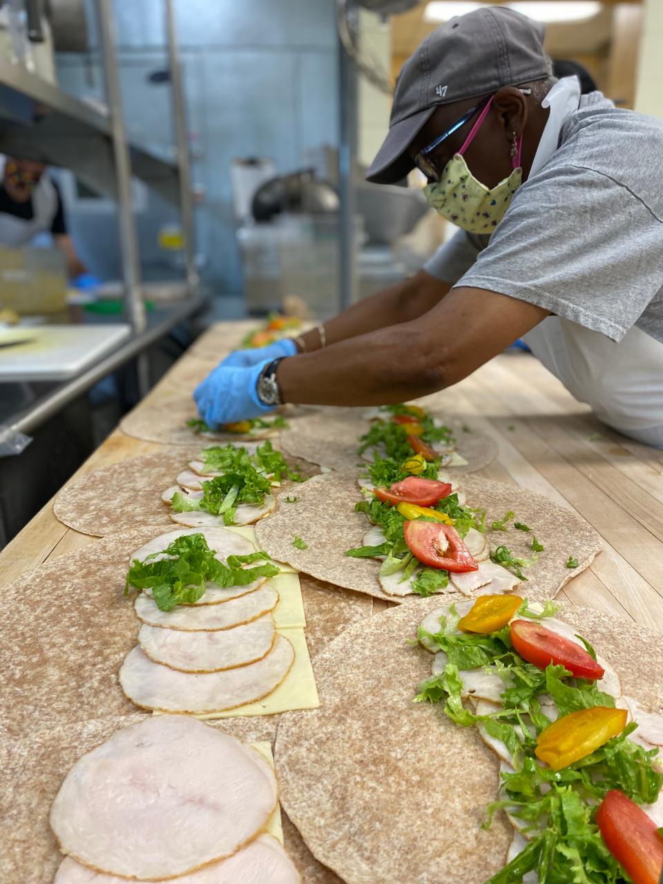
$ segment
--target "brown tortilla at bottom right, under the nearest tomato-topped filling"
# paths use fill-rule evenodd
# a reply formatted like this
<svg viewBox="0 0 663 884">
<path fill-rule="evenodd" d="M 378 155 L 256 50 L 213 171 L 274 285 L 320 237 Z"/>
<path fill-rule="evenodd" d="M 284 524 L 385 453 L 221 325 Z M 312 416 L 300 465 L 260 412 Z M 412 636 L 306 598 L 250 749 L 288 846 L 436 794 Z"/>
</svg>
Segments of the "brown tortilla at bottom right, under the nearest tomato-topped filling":
<svg viewBox="0 0 663 884">
<path fill-rule="evenodd" d="M 507 819 L 482 828 L 498 797 L 499 759 L 475 728 L 412 702 L 431 654 L 407 640 L 436 606 L 417 599 L 349 627 L 318 658 L 320 708 L 287 713 L 278 727 L 281 803 L 318 862 L 347 884 L 484 884 L 506 863 Z M 558 617 L 587 637 L 626 692 L 661 708 L 659 635 L 584 608 L 564 606 Z M 445 788 L 431 789 L 431 777 Z"/>
</svg>

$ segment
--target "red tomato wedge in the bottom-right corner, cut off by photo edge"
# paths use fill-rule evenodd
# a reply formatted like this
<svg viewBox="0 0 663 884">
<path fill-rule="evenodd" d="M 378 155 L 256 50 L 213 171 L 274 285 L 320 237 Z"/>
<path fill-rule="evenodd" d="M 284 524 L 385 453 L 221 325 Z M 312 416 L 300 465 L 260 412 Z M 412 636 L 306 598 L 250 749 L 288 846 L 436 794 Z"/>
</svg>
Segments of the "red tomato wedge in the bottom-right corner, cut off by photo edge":
<svg viewBox="0 0 663 884">
<path fill-rule="evenodd" d="M 633 884 L 659 884 L 663 840 L 653 819 L 619 789 L 606 794 L 596 814 L 606 847 Z"/>
</svg>

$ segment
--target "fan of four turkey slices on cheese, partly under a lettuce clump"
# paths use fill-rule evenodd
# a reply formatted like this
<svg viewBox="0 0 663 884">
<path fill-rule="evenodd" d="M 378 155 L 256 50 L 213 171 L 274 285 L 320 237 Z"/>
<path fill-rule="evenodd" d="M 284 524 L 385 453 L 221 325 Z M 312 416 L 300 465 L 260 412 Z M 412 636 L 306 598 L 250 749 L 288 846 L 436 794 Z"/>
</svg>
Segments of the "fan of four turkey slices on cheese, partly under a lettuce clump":
<svg viewBox="0 0 663 884">
<path fill-rule="evenodd" d="M 170 531 L 133 553 L 144 561 L 177 537 L 202 534 L 217 560 L 254 551 L 245 537 L 223 528 Z M 158 558 L 158 556 L 157 556 Z M 139 644 L 119 682 L 135 705 L 168 713 L 212 714 L 267 697 L 294 662 L 293 645 L 277 633 L 272 612 L 278 592 L 264 579 L 241 586 L 208 584 L 193 605 L 161 610 L 149 590 L 135 600 Z"/>
</svg>

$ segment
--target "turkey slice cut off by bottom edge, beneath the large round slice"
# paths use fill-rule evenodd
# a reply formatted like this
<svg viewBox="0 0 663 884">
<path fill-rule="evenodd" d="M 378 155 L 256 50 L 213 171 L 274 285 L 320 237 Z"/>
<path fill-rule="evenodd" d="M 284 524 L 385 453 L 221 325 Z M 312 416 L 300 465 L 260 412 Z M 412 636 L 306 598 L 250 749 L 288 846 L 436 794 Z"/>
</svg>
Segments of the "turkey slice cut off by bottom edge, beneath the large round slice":
<svg viewBox="0 0 663 884">
<path fill-rule="evenodd" d="M 66 857 L 53 884 L 126 884 L 126 878 L 93 872 Z M 155 884 L 165 884 L 164 880 Z M 168 884 L 301 884 L 300 873 L 276 838 L 261 834 L 255 841 L 199 872 L 169 878 Z"/>
</svg>

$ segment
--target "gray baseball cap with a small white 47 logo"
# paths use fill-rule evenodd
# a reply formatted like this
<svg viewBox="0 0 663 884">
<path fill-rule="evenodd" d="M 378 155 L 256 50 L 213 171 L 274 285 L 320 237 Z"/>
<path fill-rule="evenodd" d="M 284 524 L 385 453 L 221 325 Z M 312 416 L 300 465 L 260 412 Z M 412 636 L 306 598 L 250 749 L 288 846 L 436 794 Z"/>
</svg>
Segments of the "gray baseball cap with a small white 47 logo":
<svg viewBox="0 0 663 884">
<path fill-rule="evenodd" d="M 389 133 L 366 174 L 392 184 L 414 163 L 406 153 L 439 104 L 452 104 L 550 75 L 545 27 L 503 6 L 455 16 L 408 58 L 393 95 Z"/>
</svg>

